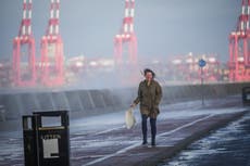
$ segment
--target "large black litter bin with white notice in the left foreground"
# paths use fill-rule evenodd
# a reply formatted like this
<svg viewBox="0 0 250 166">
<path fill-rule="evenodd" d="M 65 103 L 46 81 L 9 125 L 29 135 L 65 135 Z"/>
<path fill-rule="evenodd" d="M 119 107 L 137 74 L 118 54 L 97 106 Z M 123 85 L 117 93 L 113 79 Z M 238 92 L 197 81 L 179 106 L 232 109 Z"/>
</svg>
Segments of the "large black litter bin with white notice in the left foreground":
<svg viewBox="0 0 250 166">
<path fill-rule="evenodd" d="M 70 166 L 67 111 L 23 116 L 25 166 Z"/>
</svg>

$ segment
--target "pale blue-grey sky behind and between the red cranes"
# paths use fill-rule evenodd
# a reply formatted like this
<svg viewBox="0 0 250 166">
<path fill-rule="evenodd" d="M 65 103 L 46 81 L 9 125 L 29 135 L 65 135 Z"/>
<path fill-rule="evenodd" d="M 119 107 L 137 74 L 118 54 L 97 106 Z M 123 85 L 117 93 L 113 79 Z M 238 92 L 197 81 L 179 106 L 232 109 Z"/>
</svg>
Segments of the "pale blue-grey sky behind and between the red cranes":
<svg viewBox="0 0 250 166">
<path fill-rule="evenodd" d="M 50 0 L 33 1 L 33 33 L 39 51 Z M 9 58 L 22 20 L 23 0 L 0 2 L 0 58 Z M 125 0 L 61 0 L 60 33 L 65 56 L 112 58 L 124 3 Z M 138 55 L 216 53 L 227 61 L 228 35 L 236 27 L 240 10 L 240 0 L 136 0 Z"/>
</svg>

